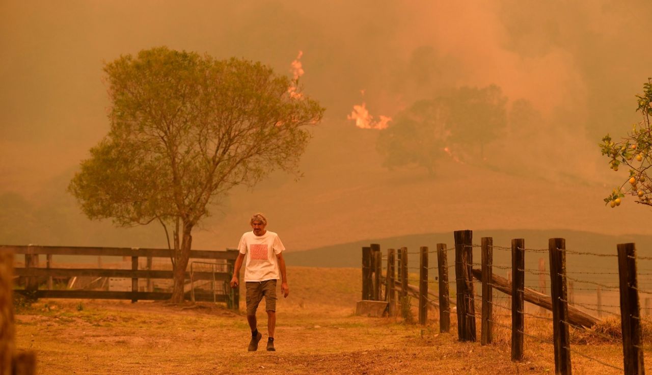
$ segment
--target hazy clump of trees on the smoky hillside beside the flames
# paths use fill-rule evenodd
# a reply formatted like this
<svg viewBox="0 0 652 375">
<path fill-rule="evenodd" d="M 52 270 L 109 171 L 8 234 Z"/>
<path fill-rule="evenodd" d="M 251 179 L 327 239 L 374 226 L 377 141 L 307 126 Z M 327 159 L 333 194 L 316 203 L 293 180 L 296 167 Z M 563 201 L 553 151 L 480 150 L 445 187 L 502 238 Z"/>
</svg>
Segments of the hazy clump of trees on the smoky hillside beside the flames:
<svg viewBox="0 0 652 375">
<path fill-rule="evenodd" d="M 477 149 L 482 158 L 484 145 L 507 126 L 506 103 L 496 85 L 460 87 L 415 102 L 381 130 L 377 149 L 383 166 L 419 166 L 432 175 L 436 161 L 455 147 Z"/>
</svg>

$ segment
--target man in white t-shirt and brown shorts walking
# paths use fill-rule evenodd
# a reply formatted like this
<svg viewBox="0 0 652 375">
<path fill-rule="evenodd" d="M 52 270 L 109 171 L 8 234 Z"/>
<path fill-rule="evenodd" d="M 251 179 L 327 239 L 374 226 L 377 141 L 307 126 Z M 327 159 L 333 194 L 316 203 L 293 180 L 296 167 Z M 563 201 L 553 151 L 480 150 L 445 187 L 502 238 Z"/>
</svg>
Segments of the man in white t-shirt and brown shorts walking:
<svg viewBox="0 0 652 375">
<path fill-rule="evenodd" d="M 252 231 L 246 232 L 238 245 L 238 258 L 235 260 L 231 288 L 238 285 L 240 268 L 244 266 L 244 284 L 246 286 L 246 320 L 251 328 L 251 341 L 249 352 L 258 350 L 258 342 L 263 335 L 258 332 L 256 310 L 258 304 L 265 297 L 265 310 L 267 311 L 267 350 L 274 349 L 274 327 L 276 326 L 276 280 L 281 279 L 281 294 L 288 297 L 288 278 L 286 277 L 285 260 L 283 259 L 283 243 L 278 235 L 267 227 L 267 218 L 261 213 L 256 213 L 249 220 Z"/>
</svg>

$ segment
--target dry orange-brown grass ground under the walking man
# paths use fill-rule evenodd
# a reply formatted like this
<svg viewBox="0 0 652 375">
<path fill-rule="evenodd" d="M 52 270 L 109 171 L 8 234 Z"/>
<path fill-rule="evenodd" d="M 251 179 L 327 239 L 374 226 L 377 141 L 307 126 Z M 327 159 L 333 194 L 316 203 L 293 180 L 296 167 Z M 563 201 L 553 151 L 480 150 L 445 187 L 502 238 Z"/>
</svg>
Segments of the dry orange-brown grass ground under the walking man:
<svg viewBox="0 0 652 375">
<path fill-rule="evenodd" d="M 290 295 L 277 307 L 276 352 L 246 351 L 242 313 L 212 303 L 148 301 L 43 299 L 17 307 L 17 345 L 36 352 L 44 375 L 554 374 L 552 345 L 526 337 L 526 358 L 513 363 L 510 333 L 502 327 L 494 344 L 481 346 L 457 341 L 454 315 L 447 334 L 438 333 L 432 311 L 425 327 L 355 316 L 359 269 L 289 267 L 288 277 Z M 266 321 L 259 312 L 263 340 Z M 552 339 L 548 320 L 526 318 L 526 332 Z M 573 333 L 573 349 L 621 367 L 619 342 L 599 337 Z M 572 355 L 572 365 L 578 375 L 621 373 L 580 355 Z"/>
</svg>

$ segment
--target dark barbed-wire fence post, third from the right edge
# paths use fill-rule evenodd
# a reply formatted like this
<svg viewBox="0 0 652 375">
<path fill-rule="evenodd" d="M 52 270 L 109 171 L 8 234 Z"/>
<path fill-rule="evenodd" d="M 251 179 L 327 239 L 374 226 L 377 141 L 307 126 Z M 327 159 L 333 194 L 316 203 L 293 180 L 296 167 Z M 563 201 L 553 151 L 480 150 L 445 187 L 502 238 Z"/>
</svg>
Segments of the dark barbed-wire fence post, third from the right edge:
<svg viewBox="0 0 652 375">
<path fill-rule="evenodd" d="M 523 360 L 526 241 L 512 239 L 512 361 Z"/>
</svg>

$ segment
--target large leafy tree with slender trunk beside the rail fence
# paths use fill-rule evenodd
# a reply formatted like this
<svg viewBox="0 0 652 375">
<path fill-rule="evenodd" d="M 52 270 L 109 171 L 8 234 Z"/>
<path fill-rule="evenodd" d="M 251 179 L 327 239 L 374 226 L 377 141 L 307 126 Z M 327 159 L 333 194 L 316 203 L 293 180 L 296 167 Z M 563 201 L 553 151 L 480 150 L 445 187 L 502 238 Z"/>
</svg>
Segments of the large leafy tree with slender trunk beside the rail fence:
<svg viewBox="0 0 652 375">
<path fill-rule="evenodd" d="M 273 170 L 297 173 L 306 126 L 324 109 L 296 89 L 290 95 L 297 82 L 243 59 L 161 47 L 121 56 L 104 72 L 110 132 L 68 190 L 91 219 L 159 222 L 166 235 L 170 227 L 171 302 L 181 303 L 192 230 L 209 206 Z"/>
</svg>

